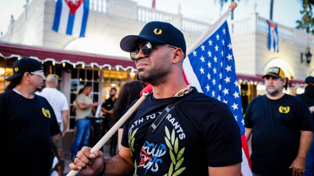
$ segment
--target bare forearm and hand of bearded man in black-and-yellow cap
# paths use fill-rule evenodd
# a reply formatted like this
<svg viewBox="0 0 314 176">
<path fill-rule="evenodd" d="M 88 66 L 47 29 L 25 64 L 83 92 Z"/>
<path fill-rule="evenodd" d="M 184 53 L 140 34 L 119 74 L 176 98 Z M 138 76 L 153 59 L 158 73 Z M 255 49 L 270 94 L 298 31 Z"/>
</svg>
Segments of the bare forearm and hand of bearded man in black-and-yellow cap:
<svg viewBox="0 0 314 176">
<path fill-rule="evenodd" d="M 292 168 L 292 176 L 301 176 L 304 174 L 305 170 L 305 158 L 306 155 L 311 147 L 313 138 L 312 131 L 302 131 L 301 130 L 301 137 L 300 137 L 300 146 L 298 155 L 293 160 L 290 169 Z"/>
</svg>

